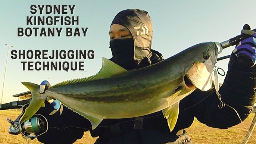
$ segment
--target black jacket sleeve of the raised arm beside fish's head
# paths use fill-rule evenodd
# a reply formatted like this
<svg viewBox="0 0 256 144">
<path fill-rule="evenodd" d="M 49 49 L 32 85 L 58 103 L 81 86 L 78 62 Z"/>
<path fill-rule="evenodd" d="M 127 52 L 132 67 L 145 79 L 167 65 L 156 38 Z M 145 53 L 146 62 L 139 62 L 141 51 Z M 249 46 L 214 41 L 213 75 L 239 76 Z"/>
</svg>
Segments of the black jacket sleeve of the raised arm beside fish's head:
<svg viewBox="0 0 256 144">
<path fill-rule="evenodd" d="M 255 103 L 256 66 L 250 67 L 231 56 L 227 76 L 219 89 L 222 101 L 226 104 L 220 109 L 216 91 L 196 90 L 191 96 L 194 116 L 207 126 L 229 128 L 247 118 Z M 239 117 L 237 113 L 239 114 Z"/>
</svg>

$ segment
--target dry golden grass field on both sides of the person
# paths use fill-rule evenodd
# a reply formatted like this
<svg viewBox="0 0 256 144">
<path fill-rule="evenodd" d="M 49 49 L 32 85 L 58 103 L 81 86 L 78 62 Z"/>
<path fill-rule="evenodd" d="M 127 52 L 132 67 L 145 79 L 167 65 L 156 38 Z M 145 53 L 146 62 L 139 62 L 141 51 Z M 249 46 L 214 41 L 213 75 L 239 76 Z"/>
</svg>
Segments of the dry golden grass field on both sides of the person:
<svg viewBox="0 0 256 144">
<path fill-rule="evenodd" d="M 0 144 L 26 144 L 26 140 L 19 135 L 10 135 L 8 129 L 10 124 L 6 121 L 7 117 L 15 119 L 20 114 L 20 111 L 15 110 L 1 110 L 0 111 Z M 249 129 L 250 123 L 253 119 L 253 114 L 250 115 L 243 123 Z M 193 125 L 186 129 L 192 137 L 194 144 L 241 144 L 245 135 L 246 129 L 242 124 L 234 126 L 229 129 L 210 128 L 197 119 L 194 120 Z M 253 132 L 254 138 L 250 138 L 248 144 L 255 144 L 256 132 Z M 84 133 L 81 140 L 77 140 L 75 144 L 93 144 L 96 138 L 92 138 L 89 132 Z M 41 144 L 35 140 L 29 140 L 30 144 Z"/>
</svg>

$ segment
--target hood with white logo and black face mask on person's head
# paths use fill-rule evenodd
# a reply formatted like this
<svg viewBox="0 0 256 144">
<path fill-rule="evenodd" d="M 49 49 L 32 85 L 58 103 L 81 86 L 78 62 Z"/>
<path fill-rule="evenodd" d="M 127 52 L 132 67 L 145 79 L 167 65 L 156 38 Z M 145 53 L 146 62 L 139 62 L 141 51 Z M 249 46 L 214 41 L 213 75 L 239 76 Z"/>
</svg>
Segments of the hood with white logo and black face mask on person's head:
<svg viewBox="0 0 256 144">
<path fill-rule="evenodd" d="M 123 10 L 115 16 L 111 25 L 113 24 L 119 24 L 119 25 L 125 26 L 131 32 L 133 42 L 134 42 L 133 51 L 131 52 L 134 53 L 133 60 L 135 61 L 136 65 L 138 65 L 138 63 L 140 63 L 140 61 L 144 59 L 144 57 L 150 58 L 152 56 L 151 45 L 152 45 L 153 27 L 152 27 L 151 18 L 148 12 L 144 10 L 138 10 L 138 9 Z M 125 40 L 125 41 L 131 41 L 131 40 Z M 110 45 L 111 45 L 111 41 L 110 41 Z M 114 61 L 115 61 L 115 57 L 120 57 L 119 55 L 115 56 L 115 54 L 118 54 L 118 53 L 115 53 L 115 52 L 113 53 L 113 50 L 112 50 L 112 54 L 113 54 Z M 117 62 L 117 64 L 119 63 Z M 132 64 L 130 66 L 127 65 L 126 67 L 134 67 L 134 68 L 126 68 L 127 70 L 136 69 L 135 66 L 132 66 Z"/>
</svg>

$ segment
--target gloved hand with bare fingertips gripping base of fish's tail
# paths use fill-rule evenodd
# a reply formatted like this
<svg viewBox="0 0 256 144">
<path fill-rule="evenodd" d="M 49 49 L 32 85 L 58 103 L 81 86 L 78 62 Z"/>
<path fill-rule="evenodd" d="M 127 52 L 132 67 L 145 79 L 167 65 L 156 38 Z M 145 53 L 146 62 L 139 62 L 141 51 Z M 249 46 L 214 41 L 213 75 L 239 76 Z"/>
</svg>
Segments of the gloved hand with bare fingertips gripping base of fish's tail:
<svg viewBox="0 0 256 144">
<path fill-rule="evenodd" d="M 39 87 L 39 93 L 43 94 L 50 87 L 51 87 L 51 85 L 48 81 L 45 80 L 45 81 L 41 82 L 40 87 Z M 58 111 L 60 111 L 60 114 L 62 113 L 63 106 L 59 100 L 55 100 L 51 97 L 47 97 L 46 100 L 51 104 L 51 106 L 53 106 L 53 111 L 50 112 L 49 115 L 53 115 L 54 113 L 56 113 Z"/>
</svg>

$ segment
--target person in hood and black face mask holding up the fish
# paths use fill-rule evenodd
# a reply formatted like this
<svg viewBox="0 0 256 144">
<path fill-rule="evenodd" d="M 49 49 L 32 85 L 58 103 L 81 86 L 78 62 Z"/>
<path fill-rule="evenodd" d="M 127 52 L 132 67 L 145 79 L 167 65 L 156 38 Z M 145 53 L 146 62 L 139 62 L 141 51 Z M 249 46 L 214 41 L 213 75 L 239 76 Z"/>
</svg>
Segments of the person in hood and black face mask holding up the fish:
<svg viewBox="0 0 256 144">
<path fill-rule="evenodd" d="M 152 50 L 153 28 L 149 14 L 144 10 L 128 9 L 119 12 L 110 25 L 110 59 L 127 70 L 139 69 L 163 60 L 162 54 Z M 62 105 L 54 106 L 46 101 L 46 107 L 38 113 L 46 116 L 49 129 L 37 137 L 42 143 L 74 143 L 84 131 L 99 137 L 95 144 L 192 144 L 184 128 L 196 117 L 213 128 L 229 128 L 247 118 L 255 103 L 256 87 L 256 34 L 235 47 L 229 62 L 229 70 L 219 90 L 222 101 L 228 106 L 219 108 L 220 100 L 214 88 L 195 90 L 180 101 L 179 116 L 170 132 L 162 111 L 127 119 L 104 119 L 92 130 L 91 123 Z M 43 85 L 46 85 L 44 83 Z M 49 85 L 49 84 L 47 84 Z M 40 87 L 40 91 L 44 87 Z M 57 101 L 57 100 L 54 100 Z M 49 113 L 57 108 L 57 112 Z M 231 106 L 231 107 L 229 107 Z M 61 108 L 59 108 L 61 107 Z M 52 114 L 52 113 L 51 113 Z"/>
</svg>

